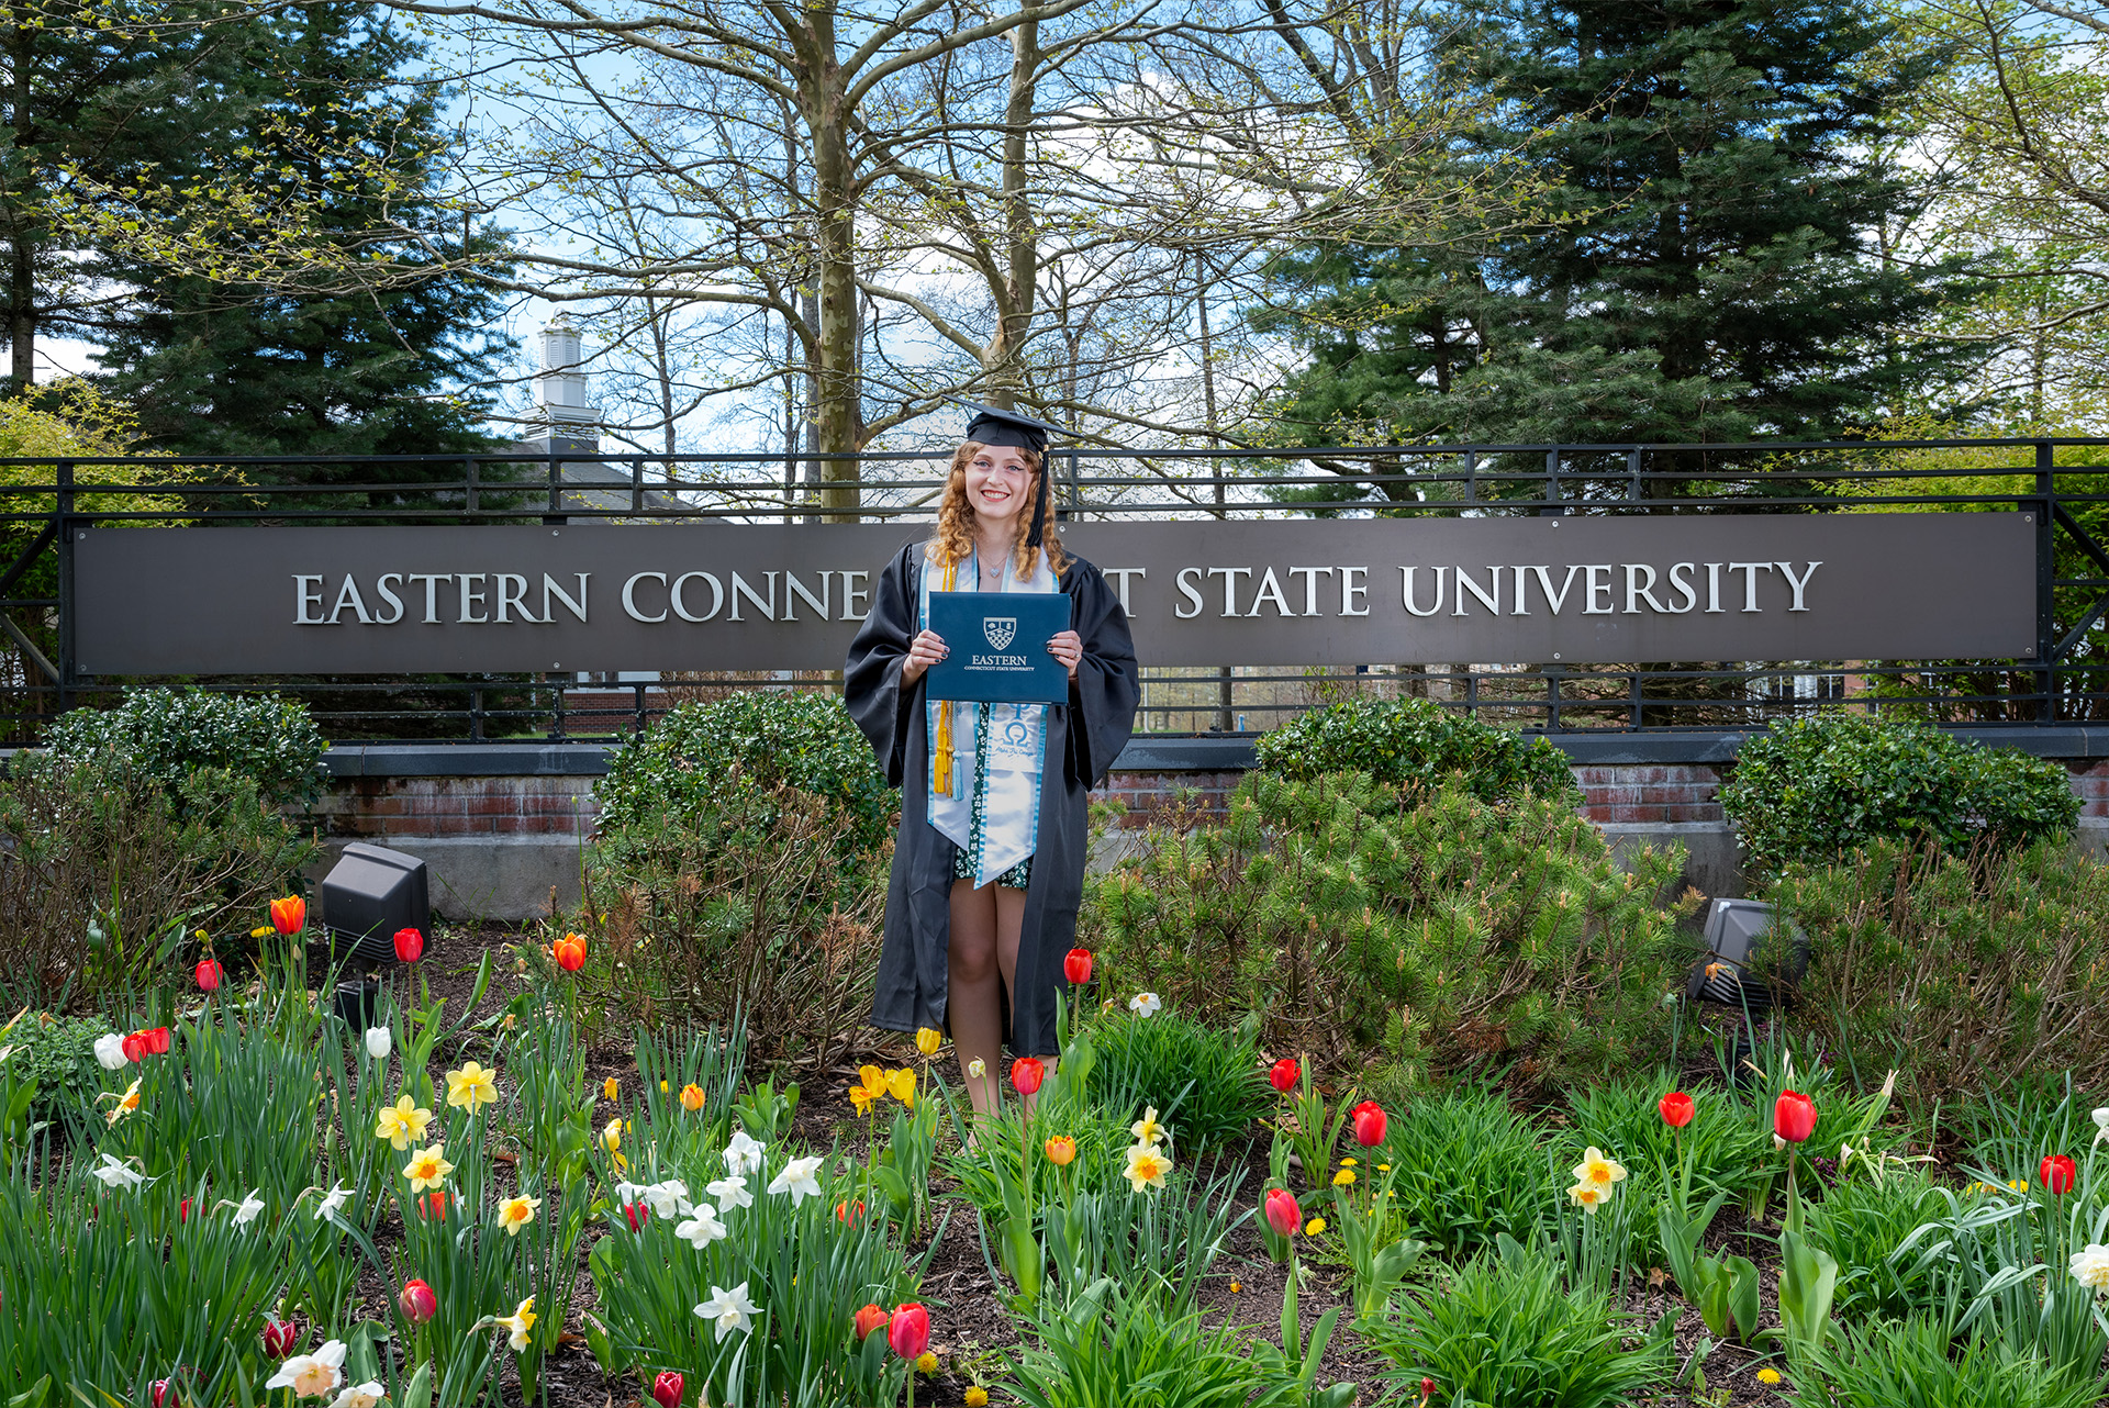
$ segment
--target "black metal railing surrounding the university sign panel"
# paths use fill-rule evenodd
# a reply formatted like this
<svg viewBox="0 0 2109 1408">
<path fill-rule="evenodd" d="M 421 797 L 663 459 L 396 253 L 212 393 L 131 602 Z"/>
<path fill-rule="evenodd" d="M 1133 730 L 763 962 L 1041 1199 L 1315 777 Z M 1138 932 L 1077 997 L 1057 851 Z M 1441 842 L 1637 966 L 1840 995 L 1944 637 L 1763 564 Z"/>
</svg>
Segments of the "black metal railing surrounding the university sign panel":
<svg viewBox="0 0 2109 1408">
<path fill-rule="evenodd" d="M 74 533 L 86 525 L 928 519 L 949 451 L 865 455 L 491 453 L 407 457 L 32 459 L 0 485 L 0 727 L 34 742 L 57 712 L 139 681 L 74 668 Z M 2029 660 L 1455 662 L 1398 668 L 1145 670 L 1139 727 L 1253 734 L 1350 693 L 1421 696 L 1548 729 L 1763 727 L 1839 700 L 1940 723 L 2109 721 L 2109 441 L 1750 445 L 1411 445 L 1057 449 L 1065 521 L 1255 516 L 2035 514 Z M 240 677 L 209 689 L 308 700 L 335 740 L 612 738 L 683 698 L 827 689 L 827 674 Z"/>
</svg>

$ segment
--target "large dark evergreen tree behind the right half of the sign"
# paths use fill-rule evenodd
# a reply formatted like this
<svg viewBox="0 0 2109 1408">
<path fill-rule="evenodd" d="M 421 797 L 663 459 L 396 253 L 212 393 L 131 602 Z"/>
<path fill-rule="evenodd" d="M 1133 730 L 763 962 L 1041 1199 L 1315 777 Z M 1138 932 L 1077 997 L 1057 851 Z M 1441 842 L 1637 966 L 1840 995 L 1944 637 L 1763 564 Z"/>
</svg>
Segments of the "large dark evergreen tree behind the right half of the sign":
<svg viewBox="0 0 2109 1408">
<path fill-rule="evenodd" d="M 1445 63 L 1502 120 L 1466 154 L 1554 177 L 1548 230 L 1455 253 L 1308 249 L 1280 274 L 1312 360 L 1284 415 L 1402 441 L 1833 438 L 1959 377 L 1913 335 L 1972 287 L 1871 232 L 1921 198 L 1890 114 L 1898 57 L 1858 0 L 1459 0 Z M 1875 57 L 1881 63 L 1875 63 Z"/>
</svg>

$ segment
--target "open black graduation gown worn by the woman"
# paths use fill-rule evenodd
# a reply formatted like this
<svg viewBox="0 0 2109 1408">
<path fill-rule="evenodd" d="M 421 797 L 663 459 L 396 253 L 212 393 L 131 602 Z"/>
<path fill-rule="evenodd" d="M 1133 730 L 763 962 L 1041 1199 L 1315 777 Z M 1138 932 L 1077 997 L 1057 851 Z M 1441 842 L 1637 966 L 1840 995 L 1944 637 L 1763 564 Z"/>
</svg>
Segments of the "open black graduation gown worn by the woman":
<svg viewBox="0 0 2109 1408">
<path fill-rule="evenodd" d="M 871 1022 L 890 1031 L 947 1031 L 947 949 L 951 940 L 951 864 L 960 847 L 928 820 L 930 740 L 924 710 L 928 674 L 901 687 L 901 666 L 917 630 L 924 544 L 894 554 L 871 592 L 871 615 L 850 643 L 844 702 L 856 727 L 901 788 L 901 835 L 886 889 L 886 944 Z M 1084 658 L 1069 702 L 1048 706 L 1046 776 L 1040 786 L 1040 839 L 1025 889 L 1019 934 L 1017 1022 L 1006 1012 L 1006 1041 L 1021 1056 L 1057 1056 L 1054 1008 L 1063 995 L 1063 955 L 1076 944 L 1090 849 L 1086 790 L 1097 786 L 1135 729 L 1139 677 L 1128 615 L 1105 575 L 1071 556 L 1061 578 L 1071 628 Z"/>
</svg>

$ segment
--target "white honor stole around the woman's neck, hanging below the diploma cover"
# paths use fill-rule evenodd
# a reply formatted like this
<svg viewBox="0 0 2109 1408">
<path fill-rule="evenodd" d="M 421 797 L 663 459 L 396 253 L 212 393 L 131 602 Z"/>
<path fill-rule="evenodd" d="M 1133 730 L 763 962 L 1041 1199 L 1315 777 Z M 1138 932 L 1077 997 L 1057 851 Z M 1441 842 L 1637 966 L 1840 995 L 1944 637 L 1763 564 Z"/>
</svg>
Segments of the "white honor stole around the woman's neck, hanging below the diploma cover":
<svg viewBox="0 0 2109 1408">
<path fill-rule="evenodd" d="M 1023 582 L 1017 561 L 1004 563 L 998 592 L 1061 590 L 1046 552 Z M 924 559 L 917 628 L 930 628 L 930 578 Z M 968 582 L 981 586 L 979 554 L 968 559 Z M 947 641 L 947 645 L 955 645 Z M 964 645 L 964 643 L 957 643 Z M 1038 643 L 1040 649 L 1046 643 Z M 951 710 L 951 788 L 930 793 L 930 824 L 974 858 L 974 889 L 1019 864 L 1040 845 L 1040 778 L 1046 757 L 1046 704 L 970 704 L 926 700 L 926 729 L 936 744 L 939 710 Z M 987 757 L 976 748 L 987 731 Z M 974 793 L 981 793 L 981 824 L 974 824 Z"/>
</svg>

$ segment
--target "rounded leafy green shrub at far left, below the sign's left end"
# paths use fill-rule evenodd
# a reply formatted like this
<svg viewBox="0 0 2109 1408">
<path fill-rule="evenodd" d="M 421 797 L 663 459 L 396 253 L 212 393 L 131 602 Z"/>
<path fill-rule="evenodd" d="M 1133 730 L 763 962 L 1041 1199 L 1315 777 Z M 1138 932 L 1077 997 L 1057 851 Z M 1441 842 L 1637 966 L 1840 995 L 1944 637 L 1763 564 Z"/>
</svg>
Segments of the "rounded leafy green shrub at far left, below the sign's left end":
<svg viewBox="0 0 2109 1408">
<path fill-rule="evenodd" d="M 272 805 L 312 803 L 329 780 L 329 744 L 293 700 L 202 689 L 135 689 L 116 708 L 76 708 L 44 731 L 44 759 L 17 767 L 93 765 L 127 784 L 177 790 L 198 767 L 219 767 L 257 784 Z"/>
</svg>

